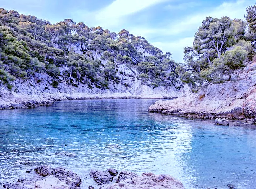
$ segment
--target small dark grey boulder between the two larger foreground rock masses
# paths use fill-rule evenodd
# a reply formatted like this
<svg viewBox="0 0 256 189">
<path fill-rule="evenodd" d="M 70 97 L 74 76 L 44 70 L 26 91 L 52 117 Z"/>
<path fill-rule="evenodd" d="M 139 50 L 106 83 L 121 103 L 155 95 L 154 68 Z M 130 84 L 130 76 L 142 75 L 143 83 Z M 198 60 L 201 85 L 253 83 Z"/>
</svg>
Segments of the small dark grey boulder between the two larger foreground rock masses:
<svg viewBox="0 0 256 189">
<path fill-rule="evenodd" d="M 108 171 L 91 170 L 90 177 L 92 177 L 98 185 L 107 184 L 113 181 L 113 176 L 110 175 Z"/>
</svg>

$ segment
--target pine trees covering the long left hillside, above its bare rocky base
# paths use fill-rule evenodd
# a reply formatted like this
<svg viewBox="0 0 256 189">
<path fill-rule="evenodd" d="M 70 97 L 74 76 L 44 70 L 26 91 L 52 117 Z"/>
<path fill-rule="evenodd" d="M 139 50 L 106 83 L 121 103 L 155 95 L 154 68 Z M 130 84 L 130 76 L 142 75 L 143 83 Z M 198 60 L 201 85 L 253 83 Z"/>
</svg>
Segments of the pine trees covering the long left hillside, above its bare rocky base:
<svg viewBox="0 0 256 189">
<path fill-rule="evenodd" d="M 72 19 L 51 24 L 0 9 L 0 84 L 10 89 L 12 80 L 24 82 L 35 73 L 51 76 L 46 88 L 59 82 L 108 88 L 109 82 L 125 85 L 128 69 L 146 85 L 175 85 L 177 65 L 170 53 L 124 29 L 116 34 Z"/>
</svg>

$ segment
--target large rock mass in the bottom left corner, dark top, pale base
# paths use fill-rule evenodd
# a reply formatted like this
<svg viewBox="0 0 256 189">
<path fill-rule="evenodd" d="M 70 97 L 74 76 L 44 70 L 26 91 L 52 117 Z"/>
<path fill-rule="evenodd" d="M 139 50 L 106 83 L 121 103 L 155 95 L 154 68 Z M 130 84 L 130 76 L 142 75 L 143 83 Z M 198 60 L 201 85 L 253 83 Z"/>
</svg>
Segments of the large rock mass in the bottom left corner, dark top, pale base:
<svg viewBox="0 0 256 189">
<path fill-rule="evenodd" d="M 6 189 L 42 188 L 42 189 L 80 189 L 81 179 L 73 171 L 66 171 L 62 167 L 51 168 L 38 166 L 35 168 L 36 176 L 18 179 L 16 183 L 7 183 Z"/>
</svg>

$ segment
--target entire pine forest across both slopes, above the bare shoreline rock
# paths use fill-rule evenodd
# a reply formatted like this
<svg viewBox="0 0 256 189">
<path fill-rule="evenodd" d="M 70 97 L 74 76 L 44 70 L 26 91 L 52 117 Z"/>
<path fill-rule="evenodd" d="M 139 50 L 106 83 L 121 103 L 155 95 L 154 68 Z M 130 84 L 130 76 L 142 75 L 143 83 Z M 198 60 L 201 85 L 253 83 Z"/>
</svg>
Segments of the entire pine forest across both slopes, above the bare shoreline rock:
<svg viewBox="0 0 256 189">
<path fill-rule="evenodd" d="M 72 19 L 51 24 L 0 8 L 0 84 L 11 90 L 12 81 L 42 73 L 48 76 L 45 89 L 59 82 L 103 89 L 109 83 L 127 85 L 124 78 L 130 74 L 152 87 L 178 88 L 183 82 L 196 92 L 205 83 L 230 80 L 232 72 L 252 60 L 256 5 L 246 11 L 246 21 L 207 17 L 193 46 L 184 49 L 185 63 L 176 63 L 171 53 L 125 29 L 116 34 Z"/>
</svg>

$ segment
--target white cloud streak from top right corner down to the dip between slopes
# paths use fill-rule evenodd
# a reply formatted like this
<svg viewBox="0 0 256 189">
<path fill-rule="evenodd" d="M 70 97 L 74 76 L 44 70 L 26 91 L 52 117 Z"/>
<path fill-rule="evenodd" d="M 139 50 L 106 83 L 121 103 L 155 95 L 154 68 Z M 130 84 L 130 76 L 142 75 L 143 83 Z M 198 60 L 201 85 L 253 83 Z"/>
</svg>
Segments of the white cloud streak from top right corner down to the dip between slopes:
<svg viewBox="0 0 256 189">
<path fill-rule="evenodd" d="M 202 10 L 201 12 L 193 15 L 187 15 L 185 18 L 170 23 L 164 28 L 132 28 L 129 29 L 131 33 L 135 35 L 144 36 L 146 39 L 152 38 L 152 36 L 159 36 L 165 38 L 165 41 L 158 40 L 152 44 L 164 52 L 171 52 L 172 57 L 177 62 L 183 62 L 183 50 L 184 47 L 192 46 L 194 34 L 198 27 L 202 24 L 202 21 L 208 17 L 221 18 L 222 16 L 229 16 L 230 18 L 244 19 L 246 13 L 246 7 L 253 5 L 252 0 L 237 0 L 236 2 L 224 2 L 220 6 L 212 9 L 211 11 Z M 187 38 L 181 38 L 181 36 L 191 36 Z M 172 41 L 171 38 L 175 38 Z M 169 41 L 169 42 L 168 42 Z M 151 41 L 150 41 L 151 42 Z"/>
</svg>

